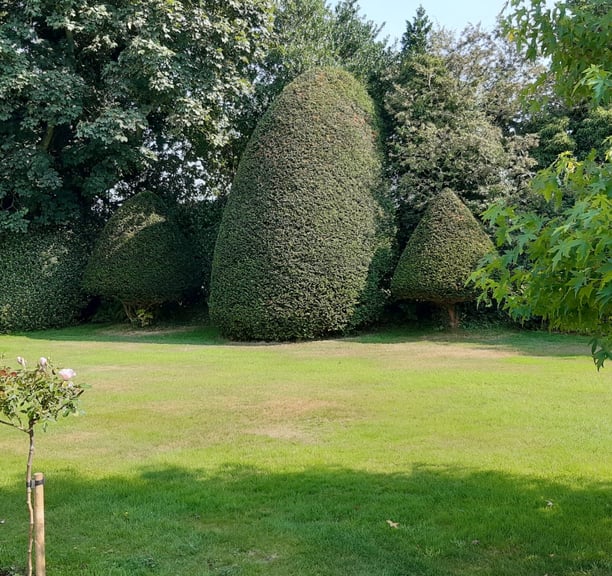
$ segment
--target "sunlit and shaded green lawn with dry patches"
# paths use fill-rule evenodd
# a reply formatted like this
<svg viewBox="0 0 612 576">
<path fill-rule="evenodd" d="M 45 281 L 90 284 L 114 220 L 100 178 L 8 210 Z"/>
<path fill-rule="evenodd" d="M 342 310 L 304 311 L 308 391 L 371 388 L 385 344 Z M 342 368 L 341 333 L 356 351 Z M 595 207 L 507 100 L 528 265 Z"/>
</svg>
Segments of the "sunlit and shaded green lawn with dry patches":
<svg viewBox="0 0 612 576">
<path fill-rule="evenodd" d="M 612 366 L 586 339 L 0 336 L 92 385 L 39 432 L 49 576 L 610 576 Z M 0 429 L 0 567 L 27 437 Z"/>
</svg>

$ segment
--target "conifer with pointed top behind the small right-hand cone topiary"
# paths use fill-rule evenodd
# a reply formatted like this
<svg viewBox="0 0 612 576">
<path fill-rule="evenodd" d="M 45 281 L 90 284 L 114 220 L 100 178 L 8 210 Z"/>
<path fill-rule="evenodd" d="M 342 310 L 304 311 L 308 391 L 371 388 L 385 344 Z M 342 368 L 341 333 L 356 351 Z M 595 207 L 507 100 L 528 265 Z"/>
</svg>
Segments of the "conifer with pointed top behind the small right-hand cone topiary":
<svg viewBox="0 0 612 576">
<path fill-rule="evenodd" d="M 475 213 L 516 189 L 521 150 L 496 126 L 478 86 L 455 73 L 448 49 L 429 28 L 408 23 L 404 49 L 385 99 L 392 135 L 388 156 L 398 201 L 400 245 L 414 231 L 429 200 L 452 188 Z M 414 30 L 420 30 L 412 40 Z M 425 50 L 425 51 L 423 51 Z"/>
</svg>

